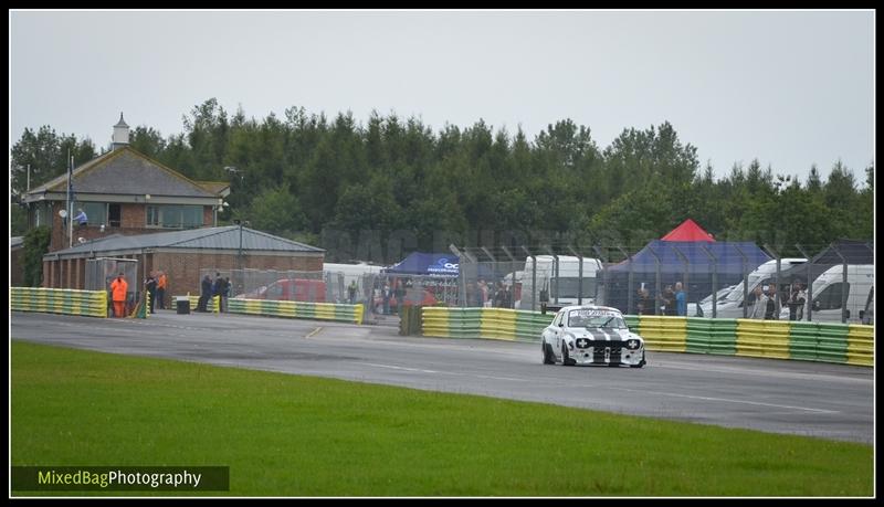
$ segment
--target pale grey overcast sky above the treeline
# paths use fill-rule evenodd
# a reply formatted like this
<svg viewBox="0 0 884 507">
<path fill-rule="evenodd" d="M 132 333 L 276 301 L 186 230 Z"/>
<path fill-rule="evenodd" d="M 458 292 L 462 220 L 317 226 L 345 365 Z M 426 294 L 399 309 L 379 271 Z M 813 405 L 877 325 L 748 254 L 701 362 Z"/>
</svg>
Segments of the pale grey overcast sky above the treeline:
<svg viewBox="0 0 884 507">
<path fill-rule="evenodd" d="M 874 160 L 874 12 L 39 12 L 9 17 L 10 148 L 50 125 L 110 140 L 124 112 L 165 137 L 215 97 L 261 119 L 291 106 L 480 118 L 529 139 L 571 118 L 600 148 L 669 120 L 717 176 L 857 181 Z"/>
</svg>

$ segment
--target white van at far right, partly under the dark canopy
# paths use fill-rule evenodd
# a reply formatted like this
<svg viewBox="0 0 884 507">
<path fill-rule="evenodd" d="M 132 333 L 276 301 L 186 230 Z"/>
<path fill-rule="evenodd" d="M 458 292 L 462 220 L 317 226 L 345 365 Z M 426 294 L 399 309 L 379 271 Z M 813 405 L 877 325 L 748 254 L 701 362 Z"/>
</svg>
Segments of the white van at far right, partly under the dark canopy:
<svg viewBox="0 0 884 507">
<path fill-rule="evenodd" d="M 811 320 L 814 323 L 840 323 L 843 303 L 843 293 L 846 297 L 848 324 L 862 324 L 870 310 L 870 300 L 874 305 L 874 278 L 875 266 L 873 264 L 849 264 L 848 285 L 844 285 L 844 266 L 832 266 L 813 281 L 813 299 Z M 804 316 L 807 319 L 807 305 Z M 862 313 L 862 315 L 861 315 Z M 789 319 L 789 308 L 783 307 L 780 320 Z"/>
</svg>

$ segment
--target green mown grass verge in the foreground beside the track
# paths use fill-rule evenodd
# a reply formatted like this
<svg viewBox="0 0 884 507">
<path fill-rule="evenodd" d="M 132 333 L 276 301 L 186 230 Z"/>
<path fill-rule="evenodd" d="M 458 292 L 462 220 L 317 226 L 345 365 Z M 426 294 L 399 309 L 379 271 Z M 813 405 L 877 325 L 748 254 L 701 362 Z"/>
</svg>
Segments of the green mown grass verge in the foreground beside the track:
<svg viewBox="0 0 884 507">
<path fill-rule="evenodd" d="M 871 496 L 873 487 L 872 446 L 820 439 L 17 340 L 11 377 L 13 465 L 230 466 L 230 492 L 207 496 Z M 122 495 L 88 493 L 104 494 Z"/>
</svg>

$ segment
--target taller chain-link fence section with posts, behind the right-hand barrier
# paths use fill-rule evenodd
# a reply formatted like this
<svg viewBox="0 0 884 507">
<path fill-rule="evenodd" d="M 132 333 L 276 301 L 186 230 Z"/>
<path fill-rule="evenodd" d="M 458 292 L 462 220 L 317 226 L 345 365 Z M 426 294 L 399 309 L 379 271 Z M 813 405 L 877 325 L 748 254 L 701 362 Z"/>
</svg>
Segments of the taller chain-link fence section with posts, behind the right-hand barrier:
<svg viewBox="0 0 884 507">
<path fill-rule="evenodd" d="M 750 242 L 652 241 L 589 251 L 459 247 L 450 306 L 538 310 L 598 304 L 630 315 L 874 323 L 874 245 L 794 245 L 801 257 Z M 585 255 L 581 255 L 585 253 Z"/>
</svg>

